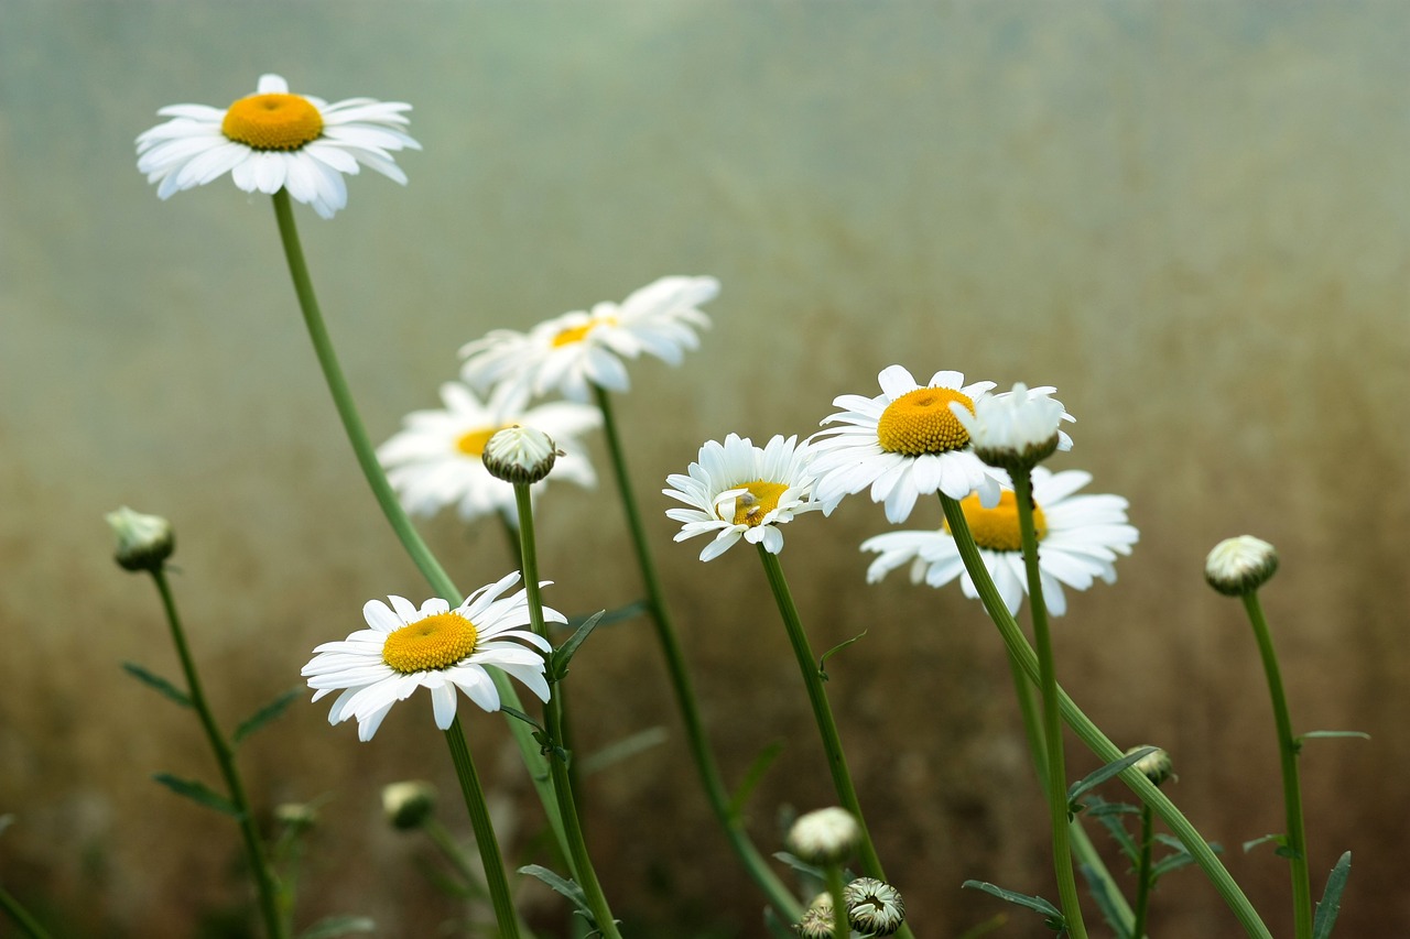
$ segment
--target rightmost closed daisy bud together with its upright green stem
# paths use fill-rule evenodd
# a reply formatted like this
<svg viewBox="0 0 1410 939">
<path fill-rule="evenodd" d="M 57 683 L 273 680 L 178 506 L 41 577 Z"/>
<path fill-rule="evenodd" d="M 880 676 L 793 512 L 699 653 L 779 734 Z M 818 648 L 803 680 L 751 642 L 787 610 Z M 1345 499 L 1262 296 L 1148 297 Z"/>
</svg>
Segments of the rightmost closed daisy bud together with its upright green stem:
<svg viewBox="0 0 1410 939">
<path fill-rule="evenodd" d="M 1277 653 L 1273 650 L 1273 636 L 1263 618 L 1263 605 L 1258 602 L 1258 588 L 1277 572 L 1277 551 L 1272 544 L 1249 534 L 1225 539 L 1214 546 L 1204 564 L 1204 579 L 1220 594 L 1238 596 L 1244 601 L 1248 622 L 1253 626 L 1253 639 L 1263 660 L 1263 674 L 1268 678 L 1268 696 L 1273 702 L 1273 725 L 1277 729 L 1277 756 L 1283 774 L 1283 812 L 1287 832 L 1283 835 L 1283 852 L 1287 854 L 1293 880 L 1293 935 L 1310 939 L 1313 935 L 1313 891 L 1307 870 L 1307 828 L 1303 822 L 1303 790 L 1297 780 L 1297 753 L 1301 749 L 1293 736 L 1293 722 L 1287 712 L 1287 695 L 1283 691 L 1283 675 L 1277 667 Z"/>
</svg>

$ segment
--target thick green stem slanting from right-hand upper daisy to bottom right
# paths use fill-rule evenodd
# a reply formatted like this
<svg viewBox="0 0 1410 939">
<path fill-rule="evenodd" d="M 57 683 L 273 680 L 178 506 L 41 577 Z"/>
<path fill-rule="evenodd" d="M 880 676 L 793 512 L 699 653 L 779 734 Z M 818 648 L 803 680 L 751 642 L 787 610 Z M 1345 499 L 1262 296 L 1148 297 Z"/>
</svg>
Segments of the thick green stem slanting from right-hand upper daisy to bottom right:
<svg viewBox="0 0 1410 939">
<path fill-rule="evenodd" d="M 964 520 L 960 503 L 942 493 L 940 505 L 945 508 L 945 520 L 950 526 L 955 544 L 959 548 L 960 558 L 964 561 L 964 570 L 969 571 L 970 579 L 974 582 L 980 601 L 984 603 L 984 610 L 994 622 L 994 626 L 998 627 L 1010 654 L 1022 665 L 1029 681 L 1036 682 L 1038 656 L 1028 646 L 1022 630 L 1018 629 L 1018 623 L 1014 622 L 1012 615 L 1010 615 L 1003 598 L 1000 598 L 998 591 L 994 588 L 994 579 L 988 575 L 988 568 L 984 567 L 984 560 L 979 556 L 979 548 L 974 546 L 974 537 L 970 534 L 969 523 Z M 1058 704 L 1062 709 L 1063 720 L 1097 759 L 1104 763 L 1114 763 L 1122 757 L 1121 749 L 1101 732 L 1101 728 L 1083 713 L 1081 708 L 1077 706 L 1060 685 L 1058 687 Z M 1208 842 L 1200 836 L 1180 809 L 1144 773 L 1134 767 L 1127 767 L 1121 771 L 1121 781 L 1142 802 L 1149 805 L 1160 816 L 1160 821 L 1166 823 L 1172 835 L 1184 845 L 1184 849 L 1190 852 L 1190 857 L 1204 871 L 1210 884 L 1224 898 L 1224 902 L 1228 904 L 1230 911 L 1239 921 L 1239 925 L 1244 926 L 1244 932 L 1258 939 L 1272 939 L 1272 933 L 1268 932 L 1268 926 L 1259 919 L 1258 911 L 1253 909 L 1248 897 L 1244 895 L 1244 891 L 1230 876 L 1228 870 L 1220 863 L 1218 856 L 1210 849 Z"/>
</svg>

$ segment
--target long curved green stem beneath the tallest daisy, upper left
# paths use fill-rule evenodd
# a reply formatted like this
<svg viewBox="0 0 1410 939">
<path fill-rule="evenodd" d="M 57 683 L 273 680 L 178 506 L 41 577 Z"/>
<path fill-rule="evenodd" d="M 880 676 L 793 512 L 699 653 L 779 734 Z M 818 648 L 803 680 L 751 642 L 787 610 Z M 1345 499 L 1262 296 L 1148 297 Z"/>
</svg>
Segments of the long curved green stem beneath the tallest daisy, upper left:
<svg viewBox="0 0 1410 939">
<path fill-rule="evenodd" d="M 303 247 L 299 244 L 299 230 L 293 223 L 289 193 L 283 189 L 274 195 L 274 214 L 279 224 L 283 254 L 289 261 L 289 276 L 293 279 L 293 292 L 299 297 L 299 309 L 303 312 L 303 321 L 309 329 L 309 338 L 313 341 L 313 351 L 319 358 L 319 365 L 323 368 L 323 378 L 329 385 L 329 392 L 333 395 L 333 403 L 338 410 L 338 417 L 343 420 L 343 429 L 348 436 L 348 443 L 352 444 L 352 453 L 362 468 L 362 475 L 372 488 L 372 495 L 382 508 L 382 515 L 386 516 L 412 563 L 416 564 L 422 577 L 431 585 L 431 591 L 451 606 L 455 606 L 464 598 L 455 589 L 455 584 L 446 574 L 440 561 L 426 547 L 422 536 L 416 532 L 412 520 L 396 501 L 396 493 L 392 491 L 391 484 L 388 484 L 386 474 L 382 472 L 382 465 L 376 460 L 376 448 L 372 446 L 372 440 L 367 436 L 367 429 L 362 426 L 362 417 L 352 402 L 352 392 L 348 389 L 343 367 L 338 365 L 337 354 L 333 351 L 333 341 L 329 338 L 329 330 L 323 323 L 319 300 L 313 295 L 313 281 L 309 278 L 309 265 L 303 259 Z M 498 668 L 489 668 L 488 671 L 491 680 L 495 682 L 495 689 L 499 691 L 499 699 L 510 708 L 523 711 L 519 692 L 509 682 L 509 675 Z M 506 720 L 509 723 L 509 733 L 519 747 L 519 756 L 529 770 L 529 778 L 539 792 L 539 801 L 543 802 L 548 825 L 553 828 L 553 833 L 561 846 L 564 845 L 563 819 L 558 818 L 548 782 L 548 768 L 539 753 L 533 730 L 522 720 L 515 720 L 513 718 L 506 718 Z"/>
</svg>

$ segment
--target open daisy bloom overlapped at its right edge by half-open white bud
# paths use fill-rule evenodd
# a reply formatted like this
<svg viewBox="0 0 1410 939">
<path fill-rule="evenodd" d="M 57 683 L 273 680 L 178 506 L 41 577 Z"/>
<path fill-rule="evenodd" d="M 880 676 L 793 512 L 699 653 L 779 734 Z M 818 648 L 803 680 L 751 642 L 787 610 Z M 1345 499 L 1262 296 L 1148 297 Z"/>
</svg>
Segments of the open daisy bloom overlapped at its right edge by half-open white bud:
<svg viewBox="0 0 1410 939">
<path fill-rule="evenodd" d="M 816 499 L 830 513 L 842 498 L 871 488 L 873 502 L 885 502 L 885 517 L 905 522 L 922 495 L 943 492 L 963 499 L 979 492 L 995 505 L 1003 474 L 970 450 L 969 433 L 950 412 L 950 402 L 967 410 L 994 382 L 964 383 L 962 372 L 935 372 L 919 385 L 900 365 L 885 368 L 876 398 L 842 395 L 840 413 L 822 420 L 812 436 L 816 455 L 808 467 L 818 479 Z"/>
</svg>

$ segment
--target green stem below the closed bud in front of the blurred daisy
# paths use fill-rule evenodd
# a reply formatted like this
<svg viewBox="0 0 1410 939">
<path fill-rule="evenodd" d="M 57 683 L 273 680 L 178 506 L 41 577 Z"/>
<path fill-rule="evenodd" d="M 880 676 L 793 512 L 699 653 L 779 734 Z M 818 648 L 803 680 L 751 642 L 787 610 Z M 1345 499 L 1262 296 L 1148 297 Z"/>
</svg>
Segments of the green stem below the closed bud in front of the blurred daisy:
<svg viewBox="0 0 1410 939">
<path fill-rule="evenodd" d="M 533 530 L 533 501 L 529 495 L 529 485 L 515 484 L 515 505 L 519 509 L 519 553 L 523 557 L 525 591 L 529 595 L 529 622 L 533 632 L 543 639 L 548 639 L 548 626 L 543 619 L 543 594 L 539 588 L 539 553 L 534 548 Z M 551 680 L 551 678 L 550 678 Z M 548 732 L 548 767 L 553 773 L 553 791 L 558 799 L 558 815 L 563 816 L 564 833 L 568 836 L 568 857 L 572 873 L 582 888 L 588 909 L 605 939 L 620 939 L 612 908 L 598 883 L 598 874 L 592 869 L 588 857 L 588 843 L 582 836 L 582 825 L 578 819 L 578 806 L 572 798 L 572 781 L 568 778 L 568 760 L 571 754 L 563 749 L 563 702 L 557 694 L 551 695 L 543 706 L 544 729 Z"/>
</svg>

